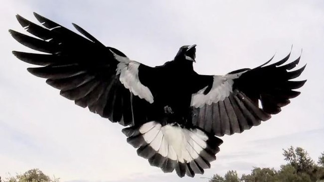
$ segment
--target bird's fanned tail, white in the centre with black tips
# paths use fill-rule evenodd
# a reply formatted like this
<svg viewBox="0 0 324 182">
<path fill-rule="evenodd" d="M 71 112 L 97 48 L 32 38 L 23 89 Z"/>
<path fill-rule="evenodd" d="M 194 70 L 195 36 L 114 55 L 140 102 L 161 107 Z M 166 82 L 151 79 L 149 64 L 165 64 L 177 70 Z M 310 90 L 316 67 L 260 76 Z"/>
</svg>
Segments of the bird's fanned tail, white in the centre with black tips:
<svg viewBox="0 0 324 182">
<path fill-rule="evenodd" d="M 156 121 L 123 129 L 127 142 L 138 148 L 137 154 L 148 159 L 164 173 L 176 171 L 179 177 L 203 174 L 216 160 L 222 140 L 198 128 L 183 128 L 177 123 L 164 126 Z"/>
</svg>

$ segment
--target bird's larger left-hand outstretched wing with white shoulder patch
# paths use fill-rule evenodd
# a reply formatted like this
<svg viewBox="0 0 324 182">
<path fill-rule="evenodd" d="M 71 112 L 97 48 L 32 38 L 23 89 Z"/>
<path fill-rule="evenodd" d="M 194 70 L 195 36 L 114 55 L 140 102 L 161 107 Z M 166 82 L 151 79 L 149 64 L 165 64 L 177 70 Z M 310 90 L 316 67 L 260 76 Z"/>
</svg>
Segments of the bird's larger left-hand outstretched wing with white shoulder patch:
<svg viewBox="0 0 324 182">
<path fill-rule="evenodd" d="M 153 68 L 104 46 L 76 24 L 74 27 L 86 38 L 37 13 L 34 15 L 44 27 L 16 17 L 22 27 L 38 38 L 9 30 L 21 44 L 44 53 L 12 52 L 24 62 L 41 66 L 28 68 L 28 72 L 46 78 L 46 83 L 59 89 L 62 96 L 113 122 L 146 122 L 146 108 L 154 98 L 139 80 L 139 67 L 143 67 L 144 76 L 146 70 Z"/>
</svg>

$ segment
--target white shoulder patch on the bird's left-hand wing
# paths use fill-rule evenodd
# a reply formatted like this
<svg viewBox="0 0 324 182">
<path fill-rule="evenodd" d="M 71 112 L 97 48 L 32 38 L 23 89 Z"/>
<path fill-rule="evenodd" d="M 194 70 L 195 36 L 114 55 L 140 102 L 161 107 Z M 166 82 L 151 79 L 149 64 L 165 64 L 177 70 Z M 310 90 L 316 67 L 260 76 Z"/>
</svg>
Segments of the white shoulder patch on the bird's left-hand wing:
<svg viewBox="0 0 324 182">
<path fill-rule="evenodd" d="M 150 89 L 144 86 L 139 79 L 140 63 L 130 60 L 128 57 L 123 57 L 111 51 L 115 59 L 119 61 L 116 69 L 116 75 L 119 76 L 120 82 L 126 89 L 129 89 L 134 95 L 144 98 L 150 103 L 154 102 L 154 98 Z"/>
</svg>

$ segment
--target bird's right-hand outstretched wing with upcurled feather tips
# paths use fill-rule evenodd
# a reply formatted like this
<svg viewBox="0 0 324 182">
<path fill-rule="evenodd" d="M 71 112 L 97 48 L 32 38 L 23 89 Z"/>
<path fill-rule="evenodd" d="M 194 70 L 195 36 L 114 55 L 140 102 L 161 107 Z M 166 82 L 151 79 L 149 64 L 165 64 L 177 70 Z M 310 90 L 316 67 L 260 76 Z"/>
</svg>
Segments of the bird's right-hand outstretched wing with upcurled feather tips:
<svg viewBox="0 0 324 182">
<path fill-rule="evenodd" d="M 290 71 L 299 63 L 300 57 L 284 65 L 283 60 L 254 69 L 241 69 L 225 76 L 213 77 L 212 86 L 192 94 L 192 123 L 216 136 L 241 133 L 270 119 L 281 107 L 290 103 L 290 98 L 300 94 L 306 81 L 290 81 L 304 71 Z M 201 79 L 206 79 L 201 77 Z M 199 82 L 199 79 L 198 79 Z M 202 82 L 202 81 L 200 81 Z M 206 90 L 210 90 L 206 94 Z M 259 105 L 259 101 L 261 105 Z"/>
</svg>

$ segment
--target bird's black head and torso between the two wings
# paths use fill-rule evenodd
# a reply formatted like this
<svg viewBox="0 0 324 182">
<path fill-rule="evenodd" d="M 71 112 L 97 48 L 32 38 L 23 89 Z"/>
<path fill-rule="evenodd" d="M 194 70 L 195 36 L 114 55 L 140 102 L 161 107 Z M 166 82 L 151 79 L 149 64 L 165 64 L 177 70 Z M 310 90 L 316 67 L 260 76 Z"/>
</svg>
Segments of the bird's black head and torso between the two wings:
<svg viewBox="0 0 324 182">
<path fill-rule="evenodd" d="M 149 108 L 152 113 L 149 120 L 164 120 L 165 123 L 176 121 L 183 126 L 190 126 L 191 95 L 212 85 L 212 77 L 198 75 L 193 70 L 193 61 L 184 57 L 187 47 L 189 46 L 182 46 L 174 60 L 162 66 L 154 69 L 145 65 L 139 67 L 139 73 L 144 75 L 141 77 L 142 75 L 139 74 L 139 80 L 150 88 L 156 98 Z M 195 48 L 192 49 L 192 57 L 195 57 Z M 151 77 L 146 77 L 146 75 L 151 75 Z M 198 84 L 192 84 L 199 80 Z M 166 106 L 171 111 L 165 111 Z"/>
</svg>

